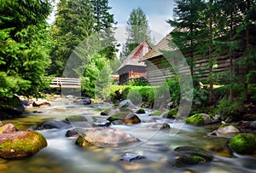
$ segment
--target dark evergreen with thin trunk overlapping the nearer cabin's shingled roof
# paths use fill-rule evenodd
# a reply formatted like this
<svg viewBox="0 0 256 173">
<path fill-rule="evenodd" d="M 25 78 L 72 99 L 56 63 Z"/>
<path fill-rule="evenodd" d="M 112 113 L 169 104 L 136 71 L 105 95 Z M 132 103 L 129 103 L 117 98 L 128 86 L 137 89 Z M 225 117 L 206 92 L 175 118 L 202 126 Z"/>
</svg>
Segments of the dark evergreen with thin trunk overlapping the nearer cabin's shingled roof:
<svg viewBox="0 0 256 173">
<path fill-rule="evenodd" d="M 194 56 L 201 43 L 201 37 L 205 28 L 205 21 L 201 20 L 202 14 L 206 9 L 206 3 L 202 0 L 176 0 L 177 7 L 173 9 L 174 20 L 167 22 L 176 29 L 172 32 L 174 43 L 189 54 L 189 64 L 191 74 L 194 70 Z"/>
</svg>

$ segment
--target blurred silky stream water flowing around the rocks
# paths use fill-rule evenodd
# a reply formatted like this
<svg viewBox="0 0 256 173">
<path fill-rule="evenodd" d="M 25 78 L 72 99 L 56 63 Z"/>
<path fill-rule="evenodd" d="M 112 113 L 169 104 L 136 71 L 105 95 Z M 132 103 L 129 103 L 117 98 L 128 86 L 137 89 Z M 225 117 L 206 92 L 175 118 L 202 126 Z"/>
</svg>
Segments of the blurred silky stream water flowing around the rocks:
<svg viewBox="0 0 256 173">
<path fill-rule="evenodd" d="M 72 101 L 71 101 L 72 102 Z M 53 120 L 63 120 L 70 115 L 81 114 L 88 119 L 102 119 L 99 108 L 108 107 L 106 104 L 95 106 L 68 105 L 68 101 L 55 100 L 51 107 L 30 110 L 24 118 L 3 121 L 12 123 L 20 130 L 36 130 L 38 124 Z M 34 156 L 26 159 L 0 160 L 1 173 L 84 173 L 84 172 L 207 172 L 207 173 L 253 173 L 256 172 L 255 156 L 237 155 L 230 152 L 227 142 L 229 138 L 212 137 L 207 134 L 217 128 L 216 125 L 196 127 L 188 124 L 173 134 L 172 130 L 152 130 L 145 128 L 150 121 L 146 114 L 139 115 L 141 124 L 111 125 L 124 130 L 140 141 L 116 148 L 83 148 L 75 144 L 76 137 L 66 137 L 67 130 L 61 128 L 52 130 L 38 130 L 48 142 L 45 147 Z M 157 122 L 166 122 L 173 126 L 173 121 L 155 118 Z M 175 130 L 174 130 L 175 131 Z M 180 146 L 195 146 L 211 151 L 214 159 L 207 164 L 197 164 L 184 168 L 172 165 L 173 149 Z M 120 161 L 123 153 L 132 152 L 143 155 L 146 159 L 136 162 Z"/>
</svg>

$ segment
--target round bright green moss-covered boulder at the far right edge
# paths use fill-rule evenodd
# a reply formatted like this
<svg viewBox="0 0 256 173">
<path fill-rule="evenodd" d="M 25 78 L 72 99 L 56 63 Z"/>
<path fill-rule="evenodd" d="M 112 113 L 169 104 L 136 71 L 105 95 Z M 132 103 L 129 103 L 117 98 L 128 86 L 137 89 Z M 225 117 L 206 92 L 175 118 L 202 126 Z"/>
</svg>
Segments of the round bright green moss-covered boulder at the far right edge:
<svg viewBox="0 0 256 173">
<path fill-rule="evenodd" d="M 252 134 L 239 134 L 230 139 L 230 147 L 236 153 L 255 153 L 256 137 Z"/>
</svg>

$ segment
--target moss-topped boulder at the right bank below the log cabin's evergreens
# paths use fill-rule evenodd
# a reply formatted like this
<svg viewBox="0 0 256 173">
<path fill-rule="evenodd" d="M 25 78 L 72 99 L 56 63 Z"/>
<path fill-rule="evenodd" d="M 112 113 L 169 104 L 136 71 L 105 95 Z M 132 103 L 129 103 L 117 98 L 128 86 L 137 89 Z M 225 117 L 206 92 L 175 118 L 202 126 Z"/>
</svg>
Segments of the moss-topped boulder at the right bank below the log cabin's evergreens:
<svg viewBox="0 0 256 173">
<path fill-rule="evenodd" d="M 195 115 L 190 116 L 186 119 L 187 124 L 194 124 L 194 125 L 205 125 L 211 124 L 212 120 L 209 115 L 206 113 L 196 113 Z"/>
</svg>

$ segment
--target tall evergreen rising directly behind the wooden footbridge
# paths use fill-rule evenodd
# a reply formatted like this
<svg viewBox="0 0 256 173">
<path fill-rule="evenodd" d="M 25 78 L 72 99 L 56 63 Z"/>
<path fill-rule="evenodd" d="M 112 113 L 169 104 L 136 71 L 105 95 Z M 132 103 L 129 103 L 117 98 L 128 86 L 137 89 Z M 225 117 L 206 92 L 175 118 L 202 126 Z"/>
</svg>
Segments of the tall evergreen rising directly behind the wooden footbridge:
<svg viewBox="0 0 256 173">
<path fill-rule="evenodd" d="M 94 18 L 90 0 L 61 0 L 57 7 L 52 28 L 55 48 L 49 72 L 61 76 L 73 49 L 93 33 Z"/>
</svg>

